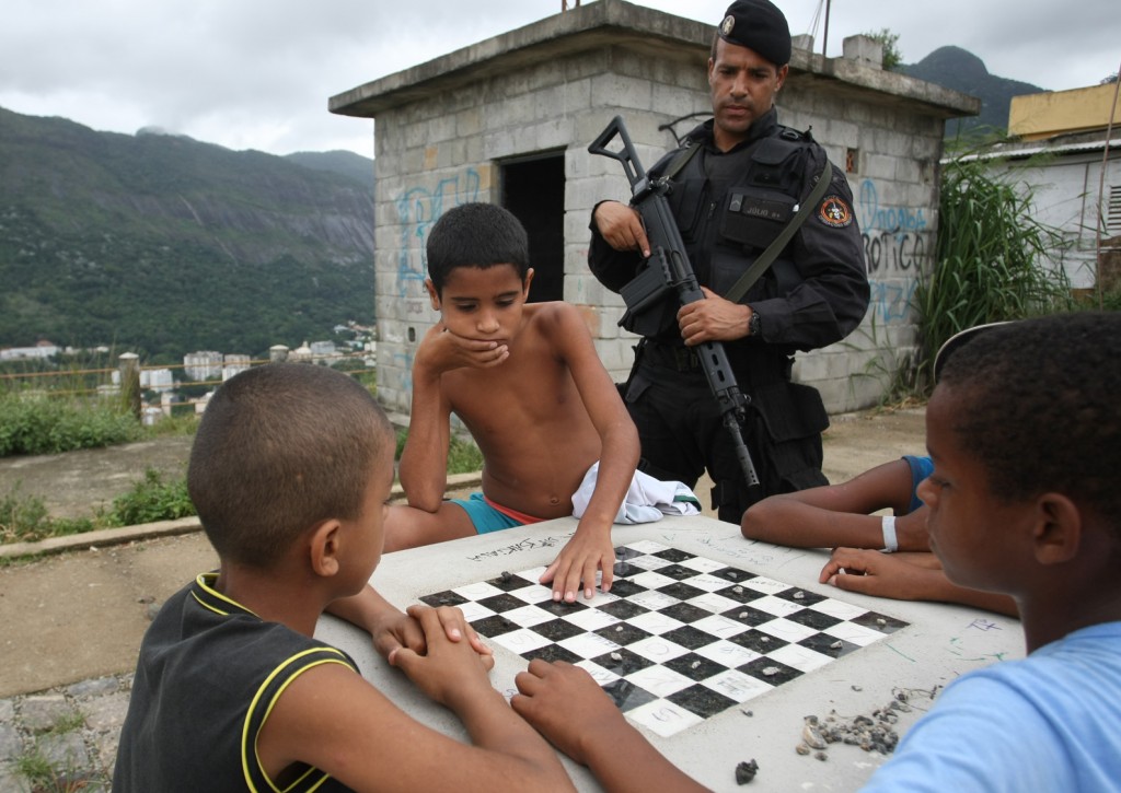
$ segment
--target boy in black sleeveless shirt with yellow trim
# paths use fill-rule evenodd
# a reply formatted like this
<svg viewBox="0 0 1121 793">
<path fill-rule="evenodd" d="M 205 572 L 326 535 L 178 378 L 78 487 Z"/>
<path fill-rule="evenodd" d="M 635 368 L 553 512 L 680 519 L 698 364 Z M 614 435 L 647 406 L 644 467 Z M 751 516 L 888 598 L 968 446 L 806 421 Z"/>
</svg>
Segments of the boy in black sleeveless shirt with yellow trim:
<svg viewBox="0 0 1121 793">
<path fill-rule="evenodd" d="M 224 383 L 195 436 L 191 497 L 220 569 L 172 596 L 140 649 L 113 791 L 572 790 L 487 677 L 454 608 L 408 616 L 368 584 L 393 438 L 356 381 L 268 364 Z M 416 721 L 315 638 L 325 609 L 457 713 Z"/>
</svg>

